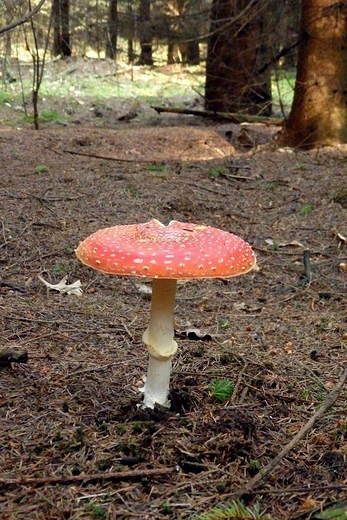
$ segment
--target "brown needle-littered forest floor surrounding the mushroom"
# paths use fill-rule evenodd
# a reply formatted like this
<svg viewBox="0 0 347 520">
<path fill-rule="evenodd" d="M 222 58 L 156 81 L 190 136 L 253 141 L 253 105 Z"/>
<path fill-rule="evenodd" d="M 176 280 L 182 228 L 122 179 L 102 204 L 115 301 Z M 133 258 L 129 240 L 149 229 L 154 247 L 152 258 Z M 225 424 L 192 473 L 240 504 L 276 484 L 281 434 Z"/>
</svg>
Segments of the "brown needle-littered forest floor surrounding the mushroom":
<svg viewBox="0 0 347 520">
<path fill-rule="evenodd" d="M 0 350 L 28 353 L 0 371 L 0 518 L 345 518 L 347 147 L 278 149 L 260 125 L 245 146 L 236 125 L 91 108 L 0 128 Z M 74 254 L 153 218 L 234 232 L 259 267 L 179 283 L 171 409 L 154 411 L 138 406 L 150 281 Z"/>
</svg>

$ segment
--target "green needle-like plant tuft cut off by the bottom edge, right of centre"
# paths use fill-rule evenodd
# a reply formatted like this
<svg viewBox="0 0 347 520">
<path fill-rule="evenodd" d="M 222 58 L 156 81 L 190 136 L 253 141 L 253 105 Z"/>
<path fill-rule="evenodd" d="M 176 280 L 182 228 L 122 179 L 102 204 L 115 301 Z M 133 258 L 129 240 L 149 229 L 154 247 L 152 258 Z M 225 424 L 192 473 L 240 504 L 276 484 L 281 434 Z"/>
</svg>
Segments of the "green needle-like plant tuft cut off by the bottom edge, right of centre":
<svg viewBox="0 0 347 520">
<path fill-rule="evenodd" d="M 233 500 L 193 517 L 194 520 L 270 520 L 270 517 L 259 510 L 259 504 L 252 509 L 246 507 L 239 500 Z"/>
</svg>

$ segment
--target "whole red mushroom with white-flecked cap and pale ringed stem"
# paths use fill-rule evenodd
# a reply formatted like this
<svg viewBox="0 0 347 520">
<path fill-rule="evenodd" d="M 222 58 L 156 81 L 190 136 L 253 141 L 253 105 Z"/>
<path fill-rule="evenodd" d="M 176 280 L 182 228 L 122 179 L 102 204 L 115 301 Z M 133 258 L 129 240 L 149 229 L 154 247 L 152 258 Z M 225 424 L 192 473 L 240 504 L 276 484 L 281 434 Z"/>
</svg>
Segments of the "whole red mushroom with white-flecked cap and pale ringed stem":
<svg viewBox="0 0 347 520">
<path fill-rule="evenodd" d="M 144 405 L 169 406 L 174 341 L 174 306 L 180 278 L 229 278 L 256 264 L 241 238 L 209 226 L 158 220 L 105 228 L 86 238 L 76 255 L 88 267 L 107 274 L 152 278 L 151 315 L 143 341 L 149 362 Z"/>
</svg>

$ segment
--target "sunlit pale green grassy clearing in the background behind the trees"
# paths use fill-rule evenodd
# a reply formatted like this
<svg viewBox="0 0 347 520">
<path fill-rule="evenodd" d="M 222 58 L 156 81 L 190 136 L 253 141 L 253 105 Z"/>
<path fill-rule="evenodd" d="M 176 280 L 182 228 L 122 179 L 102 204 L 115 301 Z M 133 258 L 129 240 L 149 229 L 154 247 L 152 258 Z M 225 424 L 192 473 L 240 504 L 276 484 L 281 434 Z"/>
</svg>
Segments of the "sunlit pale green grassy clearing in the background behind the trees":
<svg viewBox="0 0 347 520">
<path fill-rule="evenodd" d="M 204 95 L 205 67 L 129 67 L 119 62 L 117 67 L 103 68 L 103 61 L 91 59 L 86 63 L 76 58 L 73 63 L 46 63 L 39 94 L 40 106 L 65 99 L 69 107 L 112 99 L 136 100 L 158 103 L 173 98 L 173 105 L 189 106 L 197 95 Z M 277 71 L 272 78 L 272 104 L 274 113 L 281 115 L 281 105 L 288 112 L 293 99 L 295 70 Z M 11 92 L 8 92 L 8 88 Z M 22 66 L 21 81 L 0 86 L 0 106 L 4 103 L 22 105 L 24 98 L 31 98 L 32 68 Z M 175 99 L 176 98 L 176 99 Z M 59 121 L 57 112 L 42 111 L 41 122 Z M 30 121 L 30 120 L 29 120 Z"/>
</svg>

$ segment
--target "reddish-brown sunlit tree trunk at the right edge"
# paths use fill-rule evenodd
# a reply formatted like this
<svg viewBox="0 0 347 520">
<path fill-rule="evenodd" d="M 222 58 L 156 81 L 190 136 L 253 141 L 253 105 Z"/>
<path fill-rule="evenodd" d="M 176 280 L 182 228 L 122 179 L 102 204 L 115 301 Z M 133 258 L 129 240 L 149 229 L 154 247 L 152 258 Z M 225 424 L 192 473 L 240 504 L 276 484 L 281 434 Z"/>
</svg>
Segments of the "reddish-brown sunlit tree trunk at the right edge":
<svg viewBox="0 0 347 520">
<path fill-rule="evenodd" d="M 279 142 L 347 142 L 347 1 L 303 0 L 294 100 Z"/>
</svg>

